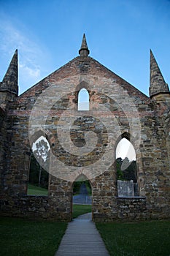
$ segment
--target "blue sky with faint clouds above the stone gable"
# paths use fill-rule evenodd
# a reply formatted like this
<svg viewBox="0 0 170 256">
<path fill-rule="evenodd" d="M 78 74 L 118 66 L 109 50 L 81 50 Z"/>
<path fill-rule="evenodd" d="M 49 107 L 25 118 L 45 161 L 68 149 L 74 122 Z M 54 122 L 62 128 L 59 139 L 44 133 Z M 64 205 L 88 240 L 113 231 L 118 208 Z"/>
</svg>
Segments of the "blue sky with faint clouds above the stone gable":
<svg viewBox="0 0 170 256">
<path fill-rule="evenodd" d="M 148 95 L 150 48 L 170 83 L 169 0 L 0 0 L 0 80 L 15 49 L 20 93 L 78 56 L 90 56 Z"/>
</svg>

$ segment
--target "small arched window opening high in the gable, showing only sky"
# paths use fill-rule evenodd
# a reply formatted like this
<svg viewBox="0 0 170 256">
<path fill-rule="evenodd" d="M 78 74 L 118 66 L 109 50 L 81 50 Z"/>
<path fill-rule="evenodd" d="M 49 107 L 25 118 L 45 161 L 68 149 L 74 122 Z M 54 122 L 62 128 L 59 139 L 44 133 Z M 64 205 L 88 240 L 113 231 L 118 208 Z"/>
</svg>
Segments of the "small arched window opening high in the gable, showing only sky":
<svg viewBox="0 0 170 256">
<path fill-rule="evenodd" d="M 89 110 L 89 93 L 82 88 L 78 94 L 78 110 Z"/>
</svg>

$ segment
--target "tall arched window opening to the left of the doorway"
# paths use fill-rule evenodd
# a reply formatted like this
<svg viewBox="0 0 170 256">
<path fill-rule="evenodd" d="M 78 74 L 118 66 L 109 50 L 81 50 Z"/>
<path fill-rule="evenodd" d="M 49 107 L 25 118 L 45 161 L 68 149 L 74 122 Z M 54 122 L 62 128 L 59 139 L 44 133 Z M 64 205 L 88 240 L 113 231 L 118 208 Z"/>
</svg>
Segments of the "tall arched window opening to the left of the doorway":
<svg viewBox="0 0 170 256">
<path fill-rule="evenodd" d="M 48 195 L 50 145 L 44 136 L 31 148 L 31 161 L 27 195 Z"/>
</svg>

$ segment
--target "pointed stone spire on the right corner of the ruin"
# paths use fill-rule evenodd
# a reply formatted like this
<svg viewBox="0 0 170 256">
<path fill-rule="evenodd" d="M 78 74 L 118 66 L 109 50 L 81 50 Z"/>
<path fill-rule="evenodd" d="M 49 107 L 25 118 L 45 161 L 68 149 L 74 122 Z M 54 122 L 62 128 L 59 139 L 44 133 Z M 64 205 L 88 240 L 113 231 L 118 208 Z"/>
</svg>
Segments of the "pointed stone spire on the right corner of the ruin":
<svg viewBox="0 0 170 256">
<path fill-rule="evenodd" d="M 169 86 L 165 82 L 161 70 L 153 56 L 152 50 L 150 50 L 150 97 L 155 94 L 167 94 L 169 93 Z"/>
</svg>

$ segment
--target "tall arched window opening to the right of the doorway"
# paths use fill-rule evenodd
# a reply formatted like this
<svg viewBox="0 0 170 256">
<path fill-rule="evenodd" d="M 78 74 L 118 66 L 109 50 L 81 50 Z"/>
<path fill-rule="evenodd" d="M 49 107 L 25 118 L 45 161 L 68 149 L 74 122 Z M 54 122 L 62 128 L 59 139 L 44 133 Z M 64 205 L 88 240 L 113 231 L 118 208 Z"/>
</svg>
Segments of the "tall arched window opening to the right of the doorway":
<svg viewBox="0 0 170 256">
<path fill-rule="evenodd" d="M 117 196 L 134 197 L 139 195 L 134 146 L 125 138 L 116 148 Z"/>
</svg>

